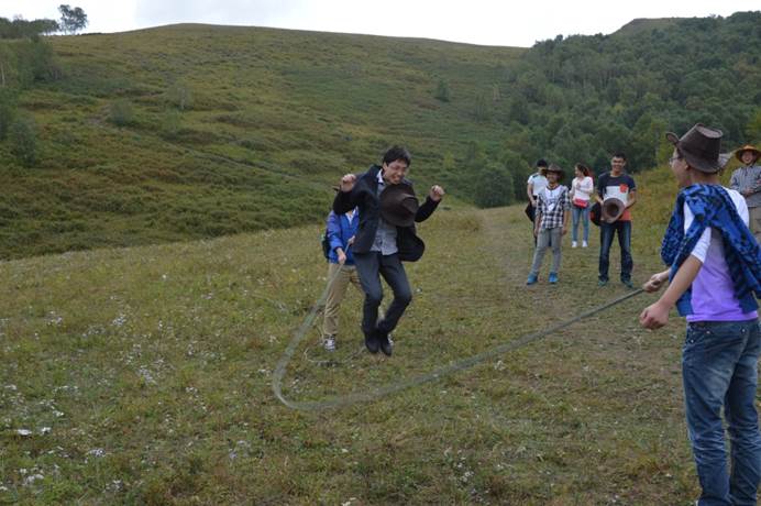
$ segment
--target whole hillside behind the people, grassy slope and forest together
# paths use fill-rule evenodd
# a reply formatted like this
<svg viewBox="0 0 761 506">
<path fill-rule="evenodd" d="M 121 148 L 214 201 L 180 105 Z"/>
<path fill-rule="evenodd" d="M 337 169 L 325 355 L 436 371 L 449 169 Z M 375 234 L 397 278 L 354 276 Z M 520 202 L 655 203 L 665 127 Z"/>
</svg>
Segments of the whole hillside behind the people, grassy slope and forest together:
<svg viewBox="0 0 761 506">
<path fill-rule="evenodd" d="M 394 143 L 421 190 L 484 207 L 522 199 L 539 157 L 599 173 L 622 150 L 638 172 L 696 121 L 734 148 L 761 140 L 759 55 L 761 12 L 529 50 L 208 25 L 0 41 L 0 258 L 315 223 Z"/>
</svg>

